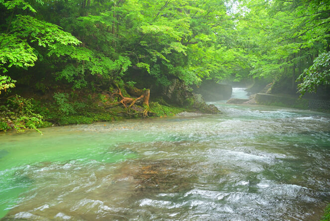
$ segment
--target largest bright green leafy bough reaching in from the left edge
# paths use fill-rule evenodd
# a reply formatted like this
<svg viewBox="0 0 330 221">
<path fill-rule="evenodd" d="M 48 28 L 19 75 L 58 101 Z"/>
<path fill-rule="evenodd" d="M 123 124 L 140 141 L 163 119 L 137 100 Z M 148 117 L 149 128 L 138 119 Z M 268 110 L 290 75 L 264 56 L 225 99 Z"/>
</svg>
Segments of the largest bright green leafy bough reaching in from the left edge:
<svg viewBox="0 0 330 221">
<path fill-rule="evenodd" d="M 16 15 L 11 23 L 13 33 L 0 33 L 0 68 L 6 72 L 7 67 L 27 68 L 34 65 L 37 55 L 28 43 L 37 42 L 38 46 L 56 47 L 55 43 L 68 45 L 81 43 L 70 33 L 62 31 L 59 26 L 41 21 L 29 15 Z M 28 41 L 26 40 L 28 39 Z"/>
</svg>

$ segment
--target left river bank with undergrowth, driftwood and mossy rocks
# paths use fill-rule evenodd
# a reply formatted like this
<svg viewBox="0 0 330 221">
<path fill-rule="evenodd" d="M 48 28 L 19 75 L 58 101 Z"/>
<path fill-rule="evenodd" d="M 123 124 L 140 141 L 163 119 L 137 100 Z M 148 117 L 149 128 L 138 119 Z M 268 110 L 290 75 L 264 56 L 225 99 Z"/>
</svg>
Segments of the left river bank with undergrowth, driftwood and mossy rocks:
<svg viewBox="0 0 330 221">
<path fill-rule="evenodd" d="M 40 132 L 39 128 L 55 125 L 166 117 L 181 112 L 219 112 L 215 106 L 206 104 L 202 96 L 186 89 L 181 89 L 185 93 L 181 92 L 180 84 L 177 87 L 167 91 L 167 99 L 173 101 L 172 104 L 168 104 L 163 97 L 153 97 L 150 103 L 149 97 L 147 103 L 138 102 L 143 90 L 134 87 L 112 88 L 113 92 L 62 89 L 59 90 L 62 92 L 55 93 L 21 93 L 24 97 L 7 96 L 0 100 L 0 131 L 34 129 Z M 178 91 L 182 94 L 175 96 Z M 124 99 L 130 103 L 124 103 Z"/>
</svg>

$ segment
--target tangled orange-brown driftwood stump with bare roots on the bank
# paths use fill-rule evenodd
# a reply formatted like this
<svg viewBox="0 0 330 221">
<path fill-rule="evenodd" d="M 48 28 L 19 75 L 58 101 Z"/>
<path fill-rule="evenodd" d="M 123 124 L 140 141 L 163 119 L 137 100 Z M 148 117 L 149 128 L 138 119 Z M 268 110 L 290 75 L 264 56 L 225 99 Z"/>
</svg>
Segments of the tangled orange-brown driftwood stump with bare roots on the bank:
<svg viewBox="0 0 330 221">
<path fill-rule="evenodd" d="M 113 92 L 109 92 L 109 91 L 107 91 L 107 92 L 117 95 L 119 97 L 119 99 L 121 99 L 120 101 L 113 103 L 111 105 L 122 104 L 127 109 L 127 113 L 134 104 L 142 103 L 142 106 L 145 109 L 141 113 L 143 113 L 143 117 L 146 117 L 146 116 L 148 116 L 148 112 L 150 110 L 150 108 L 149 108 L 150 90 L 149 89 L 145 89 L 145 90 L 135 89 L 135 92 L 138 92 L 138 91 L 142 92 L 142 95 L 139 96 L 138 98 L 130 98 L 130 97 L 123 96 L 119 87 L 118 87 L 117 93 L 113 93 Z"/>
</svg>

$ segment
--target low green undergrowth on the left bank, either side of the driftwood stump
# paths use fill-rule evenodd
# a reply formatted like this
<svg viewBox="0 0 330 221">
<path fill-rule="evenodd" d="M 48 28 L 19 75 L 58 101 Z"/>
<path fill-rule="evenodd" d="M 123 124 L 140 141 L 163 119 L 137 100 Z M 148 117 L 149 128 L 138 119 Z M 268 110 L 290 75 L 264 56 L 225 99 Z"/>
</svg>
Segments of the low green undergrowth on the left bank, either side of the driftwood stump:
<svg viewBox="0 0 330 221">
<path fill-rule="evenodd" d="M 98 121 L 117 121 L 124 118 L 137 118 L 138 114 L 128 114 L 121 106 L 107 106 L 104 95 L 92 99 L 78 100 L 74 94 L 55 93 L 53 100 L 40 101 L 32 98 L 23 98 L 18 95 L 3 98 L 0 105 L 0 131 L 14 129 L 17 132 L 34 129 L 41 133 L 39 128 L 52 125 L 91 124 Z M 91 102 L 92 101 L 92 102 Z M 175 116 L 187 111 L 187 108 L 150 102 L 151 116 Z M 136 112 L 138 113 L 138 112 Z"/>
</svg>

